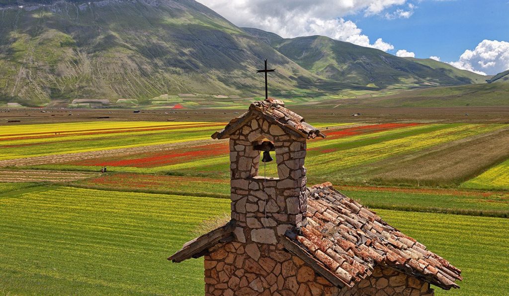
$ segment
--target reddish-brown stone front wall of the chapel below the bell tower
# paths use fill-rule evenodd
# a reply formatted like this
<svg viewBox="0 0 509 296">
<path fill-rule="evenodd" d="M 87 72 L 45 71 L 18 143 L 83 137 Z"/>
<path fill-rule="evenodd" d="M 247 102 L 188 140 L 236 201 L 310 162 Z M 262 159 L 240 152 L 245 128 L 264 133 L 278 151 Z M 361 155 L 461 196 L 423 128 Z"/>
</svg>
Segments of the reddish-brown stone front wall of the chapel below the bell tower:
<svg viewBox="0 0 509 296">
<path fill-rule="evenodd" d="M 206 295 L 337 295 L 280 244 L 228 243 L 205 256 Z"/>
</svg>

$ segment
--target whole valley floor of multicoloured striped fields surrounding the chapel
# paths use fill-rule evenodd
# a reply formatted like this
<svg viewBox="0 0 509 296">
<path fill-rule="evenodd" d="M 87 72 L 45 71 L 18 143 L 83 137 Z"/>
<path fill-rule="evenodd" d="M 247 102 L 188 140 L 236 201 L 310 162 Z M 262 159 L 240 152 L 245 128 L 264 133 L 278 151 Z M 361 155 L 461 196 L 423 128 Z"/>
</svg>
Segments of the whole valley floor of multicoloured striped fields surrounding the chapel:
<svg viewBox="0 0 509 296">
<path fill-rule="evenodd" d="M 229 212 L 218 120 L 0 126 L 0 293 L 202 293 L 202 260 L 166 258 Z M 327 138 L 308 142 L 308 185 L 331 181 L 462 269 L 448 294 L 509 289 L 509 125 L 310 122 Z"/>
</svg>

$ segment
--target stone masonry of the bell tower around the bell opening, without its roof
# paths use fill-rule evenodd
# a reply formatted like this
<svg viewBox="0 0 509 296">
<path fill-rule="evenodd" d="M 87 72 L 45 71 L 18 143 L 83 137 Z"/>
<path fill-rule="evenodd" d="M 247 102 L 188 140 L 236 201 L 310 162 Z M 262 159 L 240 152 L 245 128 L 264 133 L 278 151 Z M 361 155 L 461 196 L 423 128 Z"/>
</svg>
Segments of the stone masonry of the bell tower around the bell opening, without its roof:
<svg viewBox="0 0 509 296">
<path fill-rule="evenodd" d="M 258 175 L 261 152 L 253 146 L 264 139 L 274 144 L 277 178 Z M 261 118 L 230 135 L 231 209 L 238 242 L 275 245 L 287 229 L 301 226 L 307 210 L 305 140 Z"/>
</svg>

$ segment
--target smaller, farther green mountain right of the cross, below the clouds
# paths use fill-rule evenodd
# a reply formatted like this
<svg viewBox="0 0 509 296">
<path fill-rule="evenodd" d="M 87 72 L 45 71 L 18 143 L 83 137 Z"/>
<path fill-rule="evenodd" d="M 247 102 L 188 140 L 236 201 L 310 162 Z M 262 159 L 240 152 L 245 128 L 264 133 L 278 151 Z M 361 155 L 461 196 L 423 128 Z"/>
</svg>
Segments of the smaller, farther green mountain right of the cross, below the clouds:
<svg viewBox="0 0 509 296">
<path fill-rule="evenodd" d="M 272 38 L 270 44 L 303 68 L 324 78 L 344 83 L 414 87 L 460 85 L 475 83 L 480 79 L 480 75 L 468 71 L 447 71 L 448 69 L 444 70 L 435 65 L 434 68 L 423 65 L 420 61 L 409 61 L 378 49 L 324 36 Z"/>
</svg>

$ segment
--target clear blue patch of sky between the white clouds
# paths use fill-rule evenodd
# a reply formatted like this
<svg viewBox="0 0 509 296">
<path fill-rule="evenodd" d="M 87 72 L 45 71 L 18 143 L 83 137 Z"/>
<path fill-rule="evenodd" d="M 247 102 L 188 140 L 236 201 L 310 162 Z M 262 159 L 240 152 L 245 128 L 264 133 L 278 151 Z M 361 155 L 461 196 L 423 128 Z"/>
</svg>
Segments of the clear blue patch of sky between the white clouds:
<svg viewBox="0 0 509 296">
<path fill-rule="evenodd" d="M 509 0 L 414 2 L 409 18 L 346 16 L 372 38 L 383 38 L 415 57 L 456 61 L 465 49 L 488 40 L 509 41 Z M 394 51 L 394 50 L 392 50 Z M 390 51 L 389 51 L 390 52 Z"/>
</svg>

